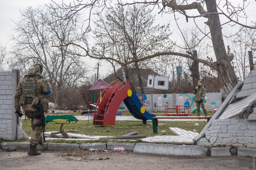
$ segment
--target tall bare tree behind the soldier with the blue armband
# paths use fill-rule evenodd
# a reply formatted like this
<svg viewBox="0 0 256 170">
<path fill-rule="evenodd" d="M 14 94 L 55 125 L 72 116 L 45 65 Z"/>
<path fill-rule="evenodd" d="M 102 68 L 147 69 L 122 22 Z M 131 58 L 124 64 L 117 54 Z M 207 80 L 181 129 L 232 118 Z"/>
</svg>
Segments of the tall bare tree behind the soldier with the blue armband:
<svg viewBox="0 0 256 170">
<path fill-rule="evenodd" d="M 10 34 L 14 41 L 10 67 L 20 69 L 25 75 L 34 63 L 41 63 L 54 94 L 54 109 L 59 107 L 61 86 L 76 85 L 86 72 L 80 57 L 68 53 L 74 50 L 72 46 L 52 47 L 76 40 L 77 30 L 80 29 L 76 26 L 79 23 L 78 14 L 69 20 L 60 20 L 58 16 L 66 12 L 62 9 L 50 10 L 46 6 L 28 7 L 20 11 Z"/>
</svg>

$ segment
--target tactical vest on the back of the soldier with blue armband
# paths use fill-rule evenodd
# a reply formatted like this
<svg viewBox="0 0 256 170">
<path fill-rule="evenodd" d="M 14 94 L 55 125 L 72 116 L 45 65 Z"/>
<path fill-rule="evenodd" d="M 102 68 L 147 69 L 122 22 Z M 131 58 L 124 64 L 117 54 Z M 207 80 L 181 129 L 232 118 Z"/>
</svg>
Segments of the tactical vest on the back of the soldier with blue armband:
<svg viewBox="0 0 256 170">
<path fill-rule="evenodd" d="M 36 77 L 36 81 L 40 78 L 44 78 L 42 75 L 37 75 L 35 77 Z M 21 97 L 26 98 L 25 104 L 31 104 L 33 101 L 33 97 L 37 97 L 36 84 L 33 79 L 33 76 L 25 76 L 24 78 L 25 78 L 25 81 L 23 82 L 23 85 L 22 85 Z M 41 96 L 41 94 L 42 94 L 42 91 L 39 90 L 39 95 Z"/>
</svg>

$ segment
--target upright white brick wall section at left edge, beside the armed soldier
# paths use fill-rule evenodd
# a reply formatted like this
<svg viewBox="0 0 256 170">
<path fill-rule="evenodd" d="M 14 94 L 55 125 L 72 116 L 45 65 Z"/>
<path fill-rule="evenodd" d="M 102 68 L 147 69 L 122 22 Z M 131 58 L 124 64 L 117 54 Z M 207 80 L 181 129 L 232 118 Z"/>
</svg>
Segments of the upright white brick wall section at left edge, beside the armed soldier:
<svg viewBox="0 0 256 170">
<path fill-rule="evenodd" d="M 18 79 L 18 70 L 0 71 L 0 138 L 10 140 L 28 138 L 17 125 L 19 121 L 14 115 L 14 92 L 19 83 Z"/>
</svg>

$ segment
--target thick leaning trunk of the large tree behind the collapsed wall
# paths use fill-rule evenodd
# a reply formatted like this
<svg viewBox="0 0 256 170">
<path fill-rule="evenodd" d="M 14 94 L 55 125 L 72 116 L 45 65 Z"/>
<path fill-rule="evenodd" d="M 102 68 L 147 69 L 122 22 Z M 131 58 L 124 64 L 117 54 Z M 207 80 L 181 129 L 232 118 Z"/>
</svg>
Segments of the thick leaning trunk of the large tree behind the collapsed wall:
<svg viewBox="0 0 256 170">
<path fill-rule="evenodd" d="M 205 0 L 208 13 L 218 12 L 216 0 Z M 224 87 L 221 88 L 221 100 L 224 101 L 228 94 L 238 83 L 235 71 L 231 65 L 231 57 L 227 54 L 220 26 L 218 14 L 208 16 L 206 24 L 209 26 L 212 37 L 212 45 L 216 56 L 216 70 L 220 73 Z"/>
</svg>

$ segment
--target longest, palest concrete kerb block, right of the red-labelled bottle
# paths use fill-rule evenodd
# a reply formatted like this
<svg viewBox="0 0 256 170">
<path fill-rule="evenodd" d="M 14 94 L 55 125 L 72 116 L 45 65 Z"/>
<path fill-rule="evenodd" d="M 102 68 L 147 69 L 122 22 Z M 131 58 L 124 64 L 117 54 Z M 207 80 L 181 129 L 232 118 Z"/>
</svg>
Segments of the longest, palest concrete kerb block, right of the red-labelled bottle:
<svg viewBox="0 0 256 170">
<path fill-rule="evenodd" d="M 135 144 L 134 153 L 146 153 L 165 156 L 196 156 L 206 157 L 207 148 L 195 145 L 173 145 L 173 144 Z"/>
</svg>

